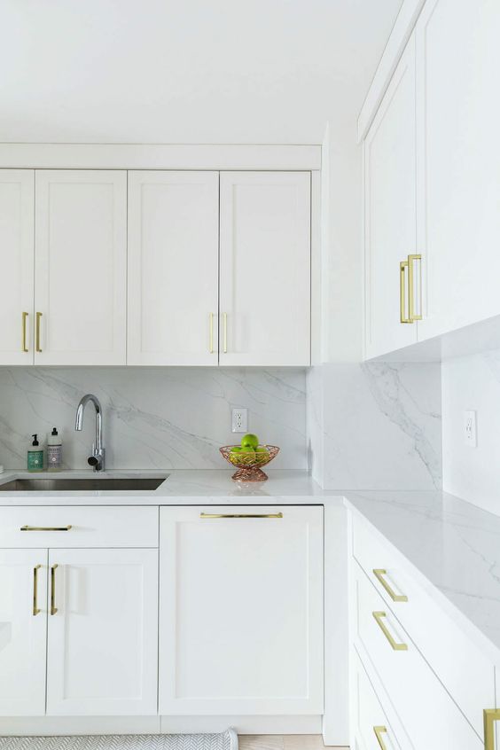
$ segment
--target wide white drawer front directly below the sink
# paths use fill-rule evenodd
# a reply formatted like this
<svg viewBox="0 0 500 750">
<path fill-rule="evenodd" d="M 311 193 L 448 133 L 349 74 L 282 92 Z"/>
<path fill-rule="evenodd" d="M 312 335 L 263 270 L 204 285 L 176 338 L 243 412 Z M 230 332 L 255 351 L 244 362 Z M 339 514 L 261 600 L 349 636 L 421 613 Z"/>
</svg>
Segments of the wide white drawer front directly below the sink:
<svg viewBox="0 0 500 750">
<path fill-rule="evenodd" d="M 0 547 L 158 547 L 158 508 L 1 508 Z"/>
</svg>

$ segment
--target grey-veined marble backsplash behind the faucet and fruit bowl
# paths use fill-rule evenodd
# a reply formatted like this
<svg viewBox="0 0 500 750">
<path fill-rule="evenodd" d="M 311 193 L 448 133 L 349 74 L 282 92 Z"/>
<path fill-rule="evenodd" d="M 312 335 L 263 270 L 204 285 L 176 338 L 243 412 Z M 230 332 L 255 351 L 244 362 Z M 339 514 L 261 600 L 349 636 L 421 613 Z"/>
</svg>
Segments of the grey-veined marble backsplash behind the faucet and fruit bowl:
<svg viewBox="0 0 500 750">
<path fill-rule="evenodd" d="M 0 464 L 26 468 L 30 435 L 62 430 L 64 467 L 87 468 L 94 437 L 88 405 L 74 431 L 83 394 L 104 410 L 109 469 L 221 469 L 219 447 L 238 442 L 230 409 L 248 409 L 248 428 L 281 451 L 273 467 L 305 470 L 306 375 L 260 368 L 0 368 Z"/>
</svg>

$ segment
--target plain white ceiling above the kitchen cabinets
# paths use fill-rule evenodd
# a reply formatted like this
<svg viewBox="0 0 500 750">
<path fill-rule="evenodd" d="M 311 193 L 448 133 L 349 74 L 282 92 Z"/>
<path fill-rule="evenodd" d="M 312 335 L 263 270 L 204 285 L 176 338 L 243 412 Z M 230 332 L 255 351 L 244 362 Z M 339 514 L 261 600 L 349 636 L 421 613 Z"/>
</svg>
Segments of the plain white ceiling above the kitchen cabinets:
<svg viewBox="0 0 500 750">
<path fill-rule="evenodd" d="M 319 143 L 401 4 L 0 0 L 0 141 Z"/>
</svg>

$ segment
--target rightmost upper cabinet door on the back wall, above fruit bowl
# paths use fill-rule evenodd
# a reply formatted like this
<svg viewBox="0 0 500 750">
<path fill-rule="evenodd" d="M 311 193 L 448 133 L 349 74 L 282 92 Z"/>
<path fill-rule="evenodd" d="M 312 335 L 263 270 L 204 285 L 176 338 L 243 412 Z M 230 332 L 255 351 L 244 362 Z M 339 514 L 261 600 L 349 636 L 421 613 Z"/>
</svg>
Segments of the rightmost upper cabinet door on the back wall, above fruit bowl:
<svg viewBox="0 0 500 750">
<path fill-rule="evenodd" d="M 310 364 L 310 174 L 221 173 L 220 359 Z"/>
</svg>

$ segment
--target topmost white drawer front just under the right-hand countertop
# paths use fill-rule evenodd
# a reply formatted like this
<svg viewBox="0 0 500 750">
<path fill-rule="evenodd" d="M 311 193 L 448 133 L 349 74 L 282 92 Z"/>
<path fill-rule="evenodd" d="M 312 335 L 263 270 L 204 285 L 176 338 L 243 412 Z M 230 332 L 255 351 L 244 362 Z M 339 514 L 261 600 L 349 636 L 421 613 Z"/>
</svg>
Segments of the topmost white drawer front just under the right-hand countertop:
<svg viewBox="0 0 500 750">
<path fill-rule="evenodd" d="M 353 521 L 355 559 L 385 606 L 392 609 L 457 706 L 481 734 L 483 709 L 495 706 L 493 665 L 407 573 L 400 556 L 363 520 L 354 517 Z"/>
</svg>

